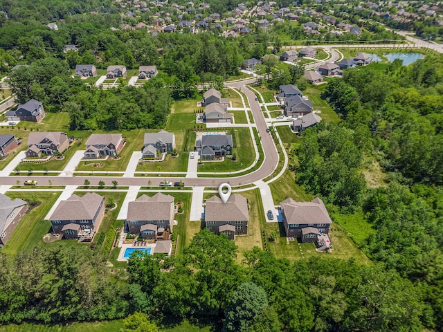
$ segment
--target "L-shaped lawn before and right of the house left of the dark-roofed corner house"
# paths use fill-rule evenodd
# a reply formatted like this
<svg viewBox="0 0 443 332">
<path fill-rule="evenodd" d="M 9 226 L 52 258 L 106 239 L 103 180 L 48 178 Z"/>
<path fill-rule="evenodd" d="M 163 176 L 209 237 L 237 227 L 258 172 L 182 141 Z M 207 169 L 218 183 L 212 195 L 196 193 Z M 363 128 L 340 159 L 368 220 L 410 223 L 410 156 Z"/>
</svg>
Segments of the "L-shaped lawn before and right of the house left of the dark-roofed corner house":
<svg viewBox="0 0 443 332">
<path fill-rule="evenodd" d="M 194 131 L 188 131 L 190 133 L 194 133 Z M 174 130 L 175 133 L 175 145 L 177 147 L 177 151 L 179 152 L 178 157 L 172 157 L 170 154 L 165 156 L 165 160 L 163 161 L 145 161 L 138 163 L 136 172 L 159 172 L 159 168 L 161 167 L 161 172 L 186 172 L 188 169 L 188 152 L 184 152 L 185 150 L 185 135 L 186 131 L 183 130 Z M 188 138 L 188 146 L 190 144 L 189 140 L 192 137 Z M 192 151 L 195 146 L 195 133 L 194 140 L 192 142 Z"/>
</svg>

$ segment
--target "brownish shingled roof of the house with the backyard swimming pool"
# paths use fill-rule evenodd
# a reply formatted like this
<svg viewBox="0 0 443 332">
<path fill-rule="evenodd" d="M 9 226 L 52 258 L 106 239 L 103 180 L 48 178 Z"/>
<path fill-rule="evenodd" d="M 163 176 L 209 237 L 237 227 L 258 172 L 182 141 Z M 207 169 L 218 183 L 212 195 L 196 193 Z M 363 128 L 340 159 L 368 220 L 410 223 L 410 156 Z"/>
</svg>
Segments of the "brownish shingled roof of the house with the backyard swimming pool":
<svg viewBox="0 0 443 332">
<path fill-rule="evenodd" d="M 150 197 L 143 194 L 135 201 L 129 202 L 126 220 L 170 220 L 172 204 L 174 197 L 170 195 L 158 192 Z"/>
</svg>

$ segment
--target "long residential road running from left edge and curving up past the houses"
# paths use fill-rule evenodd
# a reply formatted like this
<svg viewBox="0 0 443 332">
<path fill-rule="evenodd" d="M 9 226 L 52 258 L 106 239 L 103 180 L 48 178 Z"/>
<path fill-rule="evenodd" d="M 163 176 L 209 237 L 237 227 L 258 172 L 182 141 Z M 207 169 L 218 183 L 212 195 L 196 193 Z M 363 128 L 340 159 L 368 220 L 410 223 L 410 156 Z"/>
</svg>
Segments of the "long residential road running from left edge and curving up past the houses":
<svg viewBox="0 0 443 332">
<path fill-rule="evenodd" d="M 255 82 L 255 78 L 241 82 L 232 82 L 226 85 L 241 89 L 241 91 L 248 98 L 248 102 L 253 113 L 254 122 L 257 126 L 257 131 L 262 138 L 260 141 L 264 152 L 264 161 L 262 165 L 255 172 L 251 172 L 243 176 L 232 176 L 229 178 L 186 178 L 186 186 L 218 187 L 221 183 L 226 183 L 228 181 L 231 185 L 247 185 L 249 183 L 260 181 L 263 178 L 266 178 L 267 176 L 271 175 L 275 167 L 277 167 L 277 149 L 275 148 L 275 144 L 273 142 L 273 139 L 271 138 L 271 135 L 269 133 L 266 133 L 267 125 L 266 121 L 264 120 L 262 110 L 260 109 L 260 104 L 258 104 L 258 102 L 255 100 L 255 94 L 245 86 L 245 84 L 250 84 L 253 82 Z M 39 181 L 40 185 L 46 185 L 49 179 L 51 179 L 53 185 L 83 185 L 84 179 L 88 178 L 88 180 L 91 181 L 91 185 L 98 185 L 98 181 L 100 180 L 105 181 L 107 185 L 111 185 L 111 181 L 115 180 L 118 182 L 118 185 L 125 186 L 147 185 L 148 181 L 151 181 L 155 185 L 156 183 L 160 183 L 160 181 L 163 181 L 163 179 L 166 179 L 167 181 L 184 180 L 183 178 L 164 176 L 132 178 L 123 178 L 121 176 L 6 176 L 0 177 L 0 185 L 15 185 L 17 183 L 17 180 L 23 183 L 25 180 L 28 180 L 30 178 L 34 179 L 35 181 Z"/>
</svg>

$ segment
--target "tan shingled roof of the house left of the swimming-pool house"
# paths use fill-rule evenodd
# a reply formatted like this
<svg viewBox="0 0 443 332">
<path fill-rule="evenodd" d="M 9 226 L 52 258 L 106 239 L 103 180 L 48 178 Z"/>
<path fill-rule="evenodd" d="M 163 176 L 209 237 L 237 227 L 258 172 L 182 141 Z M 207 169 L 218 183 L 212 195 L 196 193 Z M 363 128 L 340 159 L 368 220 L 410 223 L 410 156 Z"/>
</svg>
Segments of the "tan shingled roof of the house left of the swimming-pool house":
<svg viewBox="0 0 443 332">
<path fill-rule="evenodd" d="M 88 192 L 82 197 L 73 194 L 60 202 L 49 220 L 92 220 L 102 201 L 103 196 L 95 192 Z"/>
</svg>

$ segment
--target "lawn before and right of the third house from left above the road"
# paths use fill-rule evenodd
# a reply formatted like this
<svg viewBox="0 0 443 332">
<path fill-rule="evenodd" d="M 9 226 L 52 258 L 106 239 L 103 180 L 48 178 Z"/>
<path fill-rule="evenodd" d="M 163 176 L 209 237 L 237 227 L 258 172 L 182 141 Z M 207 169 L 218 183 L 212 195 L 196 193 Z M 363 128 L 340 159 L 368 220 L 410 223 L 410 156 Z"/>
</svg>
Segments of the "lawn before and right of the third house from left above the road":
<svg viewBox="0 0 443 332">
<path fill-rule="evenodd" d="M 123 147 L 122 151 L 120 151 L 121 158 L 118 160 L 114 160 L 108 158 L 107 160 L 100 161 L 103 163 L 102 167 L 93 167 L 92 161 L 80 161 L 78 164 L 77 171 L 118 171 L 124 172 L 126 170 L 127 164 L 129 163 L 129 159 L 132 156 L 132 152 L 141 150 L 143 147 L 143 138 L 145 136 L 146 129 L 136 129 L 132 131 L 121 131 L 123 137 L 126 138 L 125 147 Z M 110 132 L 111 133 L 111 132 Z"/>
</svg>

